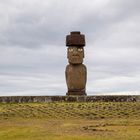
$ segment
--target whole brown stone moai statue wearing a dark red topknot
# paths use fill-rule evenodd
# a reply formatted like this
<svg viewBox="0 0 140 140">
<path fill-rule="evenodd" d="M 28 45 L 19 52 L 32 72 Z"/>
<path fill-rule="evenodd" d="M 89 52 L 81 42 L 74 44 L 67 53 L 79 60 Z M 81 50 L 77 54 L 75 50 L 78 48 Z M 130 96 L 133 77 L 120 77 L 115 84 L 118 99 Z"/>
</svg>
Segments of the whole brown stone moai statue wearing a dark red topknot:
<svg viewBox="0 0 140 140">
<path fill-rule="evenodd" d="M 67 95 L 86 95 L 87 70 L 83 65 L 85 36 L 79 31 L 66 36 L 67 58 L 66 67 Z"/>
</svg>

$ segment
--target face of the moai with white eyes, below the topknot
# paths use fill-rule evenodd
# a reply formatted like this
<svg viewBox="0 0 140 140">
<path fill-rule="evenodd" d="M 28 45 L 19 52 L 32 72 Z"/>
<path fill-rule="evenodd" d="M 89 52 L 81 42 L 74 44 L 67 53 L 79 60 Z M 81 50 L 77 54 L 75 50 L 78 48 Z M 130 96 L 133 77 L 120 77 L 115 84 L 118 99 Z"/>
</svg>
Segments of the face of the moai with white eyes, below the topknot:
<svg viewBox="0 0 140 140">
<path fill-rule="evenodd" d="M 67 58 L 70 64 L 81 64 L 84 58 L 83 47 L 69 47 L 67 49 Z"/>
</svg>

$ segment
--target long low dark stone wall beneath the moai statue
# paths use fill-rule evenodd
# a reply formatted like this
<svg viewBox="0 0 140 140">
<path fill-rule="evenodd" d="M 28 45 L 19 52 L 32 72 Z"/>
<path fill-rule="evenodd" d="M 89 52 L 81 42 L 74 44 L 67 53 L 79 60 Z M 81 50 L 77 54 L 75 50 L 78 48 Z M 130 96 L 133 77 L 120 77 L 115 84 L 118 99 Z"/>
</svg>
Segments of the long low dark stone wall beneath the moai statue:
<svg viewBox="0 0 140 140">
<path fill-rule="evenodd" d="M 29 102 L 140 102 L 137 96 L 4 96 L 0 103 Z"/>
</svg>

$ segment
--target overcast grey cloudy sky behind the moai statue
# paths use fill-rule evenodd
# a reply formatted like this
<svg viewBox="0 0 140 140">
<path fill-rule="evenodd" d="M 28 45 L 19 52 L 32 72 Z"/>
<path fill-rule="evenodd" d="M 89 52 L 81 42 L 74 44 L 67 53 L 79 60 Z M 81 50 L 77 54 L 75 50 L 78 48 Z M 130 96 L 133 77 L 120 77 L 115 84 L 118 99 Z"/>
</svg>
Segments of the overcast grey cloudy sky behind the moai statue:
<svg viewBox="0 0 140 140">
<path fill-rule="evenodd" d="M 87 95 L 140 95 L 139 0 L 0 0 L 0 96 L 66 95 L 66 35 L 85 34 Z"/>
</svg>

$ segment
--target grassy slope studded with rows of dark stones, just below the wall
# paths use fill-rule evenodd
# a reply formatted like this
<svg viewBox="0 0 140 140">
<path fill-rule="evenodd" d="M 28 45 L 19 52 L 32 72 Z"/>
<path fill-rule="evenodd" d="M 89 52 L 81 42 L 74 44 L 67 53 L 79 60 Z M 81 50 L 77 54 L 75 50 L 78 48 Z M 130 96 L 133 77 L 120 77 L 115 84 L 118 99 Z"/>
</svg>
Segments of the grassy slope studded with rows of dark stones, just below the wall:
<svg viewBox="0 0 140 140">
<path fill-rule="evenodd" d="M 0 118 L 139 118 L 140 102 L 0 104 Z"/>
</svg>

